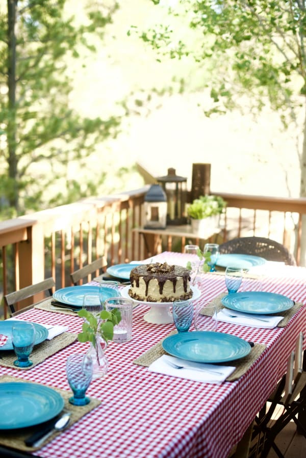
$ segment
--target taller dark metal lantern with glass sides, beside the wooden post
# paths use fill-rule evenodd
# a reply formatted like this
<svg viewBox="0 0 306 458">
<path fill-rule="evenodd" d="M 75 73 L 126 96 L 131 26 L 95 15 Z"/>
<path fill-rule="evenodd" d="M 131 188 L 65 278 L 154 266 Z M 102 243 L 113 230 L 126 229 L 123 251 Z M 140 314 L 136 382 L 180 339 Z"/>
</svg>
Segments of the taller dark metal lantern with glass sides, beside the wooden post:
<svg viewBox="0 0 306 458">
<path fill-rule="evenodd" d="M 157 178 L 167 196 L 167 224 L 186 224 L 187 178 L 175 175 L 175 169 L 168 169 L 168 175 Z"/>
</svg>

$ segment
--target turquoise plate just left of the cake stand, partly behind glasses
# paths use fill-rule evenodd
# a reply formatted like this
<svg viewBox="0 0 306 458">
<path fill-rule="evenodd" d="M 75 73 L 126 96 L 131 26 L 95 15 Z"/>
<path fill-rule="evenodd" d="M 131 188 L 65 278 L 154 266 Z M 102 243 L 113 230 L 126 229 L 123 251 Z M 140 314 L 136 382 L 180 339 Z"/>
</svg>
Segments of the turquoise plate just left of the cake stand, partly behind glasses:
<svg viewBox="0 0 306 458">
<path fill-rule="evenodd" d="M 113 288 L 108 288 L 104 286 L 103 291 L 103 300 L 113 298 L 114 290 Z M 53 293 L 53 297 L 56 301 L 62 302 L 63 304 L 74 305 L 74 306 L 83 306 L 83 297 L 85 294 L 99 294 L 98 286 L 68 286 L 67 288 L 58 289 Z"/>
</svg>

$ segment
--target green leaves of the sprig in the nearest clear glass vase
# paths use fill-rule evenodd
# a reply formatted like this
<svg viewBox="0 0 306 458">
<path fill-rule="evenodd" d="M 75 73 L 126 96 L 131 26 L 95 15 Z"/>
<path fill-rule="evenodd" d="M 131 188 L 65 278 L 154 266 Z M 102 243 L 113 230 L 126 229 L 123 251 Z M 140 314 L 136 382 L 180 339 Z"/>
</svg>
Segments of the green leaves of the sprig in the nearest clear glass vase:
<svg viewBox="0 0 306 458">
<path fill-rule="evenodd" d="M 118 309 L 113 309 L 110 312 L 102 310 L 97 317 L 82 309 L 78 312 L 78 315 L 86 320 L 82 325 L 82 332 L 78 334 L 79 342 L 91 342 L 94 346 L 97 333 L 106 342 L 112 340 L 114 326 L 118 325 L 121 320 L 121 313 Z"/>
</svg>

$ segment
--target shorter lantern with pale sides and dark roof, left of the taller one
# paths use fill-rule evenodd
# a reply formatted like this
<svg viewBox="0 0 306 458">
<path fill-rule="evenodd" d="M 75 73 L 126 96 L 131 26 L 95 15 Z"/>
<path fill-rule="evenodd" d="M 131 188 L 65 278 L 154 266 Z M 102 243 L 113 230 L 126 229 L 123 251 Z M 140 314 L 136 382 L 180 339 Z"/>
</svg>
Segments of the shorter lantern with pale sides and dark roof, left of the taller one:
<svg viewBox="0 0 306 458">
<path fill-rule="evenodd" d="M 165 229 L 167 197 L 159 184 L 152 184 L 144 196 L 144 229 Z"/>
</svg>

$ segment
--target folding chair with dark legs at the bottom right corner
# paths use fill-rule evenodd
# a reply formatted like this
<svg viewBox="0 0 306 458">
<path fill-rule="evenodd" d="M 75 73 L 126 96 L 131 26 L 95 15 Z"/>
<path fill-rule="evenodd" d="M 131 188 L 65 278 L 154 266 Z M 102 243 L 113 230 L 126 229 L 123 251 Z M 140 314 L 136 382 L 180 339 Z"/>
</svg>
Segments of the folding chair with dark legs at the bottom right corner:
<svg viewBox="0 0 306 458">
<path fill-rule="evenodd" d="M 293 420 L 298 427 L 298 432 L 306 438 L 306 424 L 299 416 L 304 414 L 306 402 L 306 372 L 303 370 L 303 335 L 300 333 L 296 339 L 295 351 L 288 358 L 287 372 L 278 382 L 276 389 L 270 396 L 271 405 L 266 412 L 266 406 L 255 418 L 253 425 L 252 443 L 249 458 L 260 456 L 266 458 L 271 448 L 279 458 L 284 458 L 281 450 L 275 444 L 276 436 Z M 278 405 L 284 407 L 283 412 L 274 421 L 271 420 L 273 412 Z"/>
</svg>

